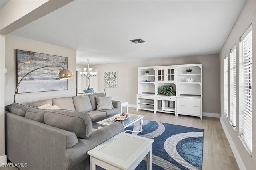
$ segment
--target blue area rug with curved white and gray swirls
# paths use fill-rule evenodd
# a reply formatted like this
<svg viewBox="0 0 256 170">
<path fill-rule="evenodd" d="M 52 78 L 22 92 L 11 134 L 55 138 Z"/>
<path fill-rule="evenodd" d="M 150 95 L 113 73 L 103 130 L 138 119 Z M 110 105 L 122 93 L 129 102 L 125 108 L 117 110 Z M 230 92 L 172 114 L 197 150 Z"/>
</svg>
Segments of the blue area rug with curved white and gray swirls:
<svg viewBox="0 0 256 170">
<path fill-rule="evenodd" d="M 140 123 L 125 130 L 138 131 Z M 132 133 L 154 139 L 152 144 L 153 170 L 202 170 L 204 129 L 144 120 L 142 133 Z M 131 132 L 128 132 L 131 133 Z M 145 170 L 143 160 L 136 170 Z"/>
</svg>

